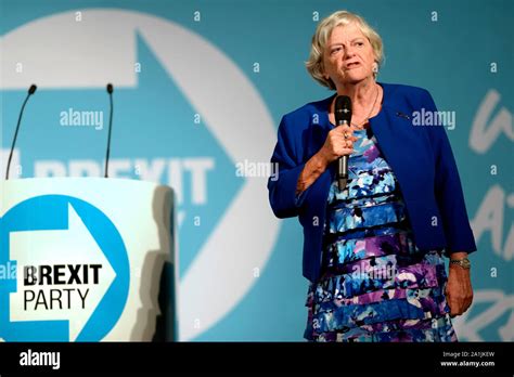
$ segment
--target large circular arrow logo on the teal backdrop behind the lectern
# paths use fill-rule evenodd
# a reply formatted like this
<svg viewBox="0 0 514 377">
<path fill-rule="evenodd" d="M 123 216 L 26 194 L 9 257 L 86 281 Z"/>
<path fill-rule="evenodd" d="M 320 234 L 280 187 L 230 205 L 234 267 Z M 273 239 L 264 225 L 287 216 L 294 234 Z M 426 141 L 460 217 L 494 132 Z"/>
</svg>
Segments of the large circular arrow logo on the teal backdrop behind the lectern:
<svg viewBox="0 0 514 377">
<path fill-rule="evenodd" d="M 170 14 L 158 9 L 163 4 L 152 6 Z M 14 126 L 7 125 L 16 123 L 26 89 L 37 83 L 14 154 L 23 177 L 102 176 L 105 84 L 113 82 L 110 177 L 174 188 L 178 333 L 180 340 L 200 336 L 258 281 L 280 231 L 267 202 L 266 178 L 236 174 L 242 161 L 269 161 L 275 141 L 274 121 L 247 77 L 253 66 L 246 75 L 194 32 L 203 29 L 200 14 L 182 20 L 189 29 L 113 9 L 66 11 L 29 23 L 23 12 L 9 18 L 16 16 L 25 24 L 13 24 L 1 38 L 2 147 L 13 134 Z M 90 121 L 81 120 L 85 114 L 93 115 Z M 95 271 L 88 268 L 90 278 Z"/>
</svg>

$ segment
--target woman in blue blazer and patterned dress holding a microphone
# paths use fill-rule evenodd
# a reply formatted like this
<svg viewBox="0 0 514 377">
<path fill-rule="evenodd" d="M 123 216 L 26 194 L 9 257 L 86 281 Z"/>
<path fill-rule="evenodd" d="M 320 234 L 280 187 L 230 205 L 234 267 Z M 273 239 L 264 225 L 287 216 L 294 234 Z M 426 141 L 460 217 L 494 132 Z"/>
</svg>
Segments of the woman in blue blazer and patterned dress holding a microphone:
<svg viewBox="0 0 514 377">
<path fill-rule="evenodd" d="M 307 69 L 336 90 L 282 118 L 271 162 L 270 204 L 304 226 L 310 282 L 305 338 L 313 341 L 458 341 L 451 317 L 472 303 L 475 240 L 442 127 L 415 127 L 436 112 L 420 88 L 376 82 L 380 36 L 358 15 L 335 12 L 312 38 Z M 335 127 L 336 95 L 352 103 Z M 349 155 L 339 191 L 336 159 Z M 449 274 L 444 257 L 450 258 Z"/>
</svg>

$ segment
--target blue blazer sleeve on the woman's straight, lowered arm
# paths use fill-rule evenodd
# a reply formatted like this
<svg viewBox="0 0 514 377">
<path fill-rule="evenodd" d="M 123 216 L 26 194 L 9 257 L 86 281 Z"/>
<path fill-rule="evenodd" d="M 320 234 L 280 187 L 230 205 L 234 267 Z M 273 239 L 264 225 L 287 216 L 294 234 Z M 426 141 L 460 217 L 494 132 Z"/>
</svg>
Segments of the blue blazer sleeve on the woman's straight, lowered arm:
<svg viewBox="0 0 514 377">
<path fill-rule="evenodd" d="M 431 93 L 424 91 L 424 94 L 425 110 L 437 112 Z M 475 238 L 470 226 L 461 180 L 445 127 L 433 126 L 425 129 L 434 153 L 434 191 L 447 238 L 446 255 L 458 251 L 473 252 L 476 250 Z"/>
</svg>

